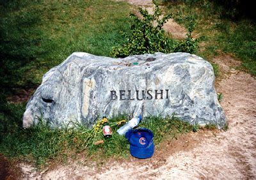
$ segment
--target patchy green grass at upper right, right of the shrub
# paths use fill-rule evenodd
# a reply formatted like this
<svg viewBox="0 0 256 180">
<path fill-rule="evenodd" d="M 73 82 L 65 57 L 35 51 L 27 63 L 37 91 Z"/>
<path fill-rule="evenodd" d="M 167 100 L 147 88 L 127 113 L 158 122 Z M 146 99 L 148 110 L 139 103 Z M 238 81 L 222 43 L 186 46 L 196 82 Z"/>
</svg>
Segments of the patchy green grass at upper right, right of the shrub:
<svg viewBox="0 0 256 180">
<path fill-rule="evenodd" d="M 221 7 L 209 1 L 165 3 L 165 6 L 180 24 L 187 15 L 196 17 L 195 34 L 205 37 L 197 53 L 199 56 L 212 61 L 219 52 L 233 54 L 241 59 L 241 69 L 256 75 L 256 25 L 253 20 L 244 17 L 236 21 L 223 19 Z M 215 71 L 217 69 L 214 67 Z"/>
</svg>

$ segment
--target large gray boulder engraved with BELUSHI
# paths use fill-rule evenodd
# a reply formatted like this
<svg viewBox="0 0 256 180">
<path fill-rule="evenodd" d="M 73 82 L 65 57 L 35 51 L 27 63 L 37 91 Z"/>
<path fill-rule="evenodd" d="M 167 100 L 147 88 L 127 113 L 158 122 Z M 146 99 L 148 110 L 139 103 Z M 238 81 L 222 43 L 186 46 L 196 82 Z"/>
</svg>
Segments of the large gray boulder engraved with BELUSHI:
<svg viewBox="0 0 256 180">
<path fill-rule="evenodd" d="M 115 114 L 171 116 L 191 124 L 225 124 L 214 89 L 212 66 L 188 53 L 125 58 L 74 52 L 49 70 L 26 107 L 23 126 L 38 118 L 61 127 L 92 126 Z"/>
</svg>

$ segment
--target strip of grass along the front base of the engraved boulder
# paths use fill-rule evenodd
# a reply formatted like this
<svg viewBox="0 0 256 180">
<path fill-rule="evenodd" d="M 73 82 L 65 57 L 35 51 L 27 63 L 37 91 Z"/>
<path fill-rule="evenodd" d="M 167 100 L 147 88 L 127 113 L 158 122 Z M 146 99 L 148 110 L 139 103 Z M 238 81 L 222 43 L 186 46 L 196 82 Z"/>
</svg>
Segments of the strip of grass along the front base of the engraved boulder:
<svg viewBox="0 0 256 180">
<path fill-rule="evenodd" d="M 13 111 L 20 109 L 12 105 Z M 16 112 L 17 117 L 22 111 Z M 16 117 L 16 118 L 17 118 Z M 17 118 L 20 119 L 20 118 Z M 104 140 L 102 125 L 88 130 L 85 126 L 74 123 L 74 128 L 52 129 L 44 121 L 28 129 L 21 128 L 21 122 L 7 122 L 0 126 L 1 143 L 0 152 L 12 160 L 23 160 L 35 163 L 38 169 L 47 167 L 52 162 L 65 162 L 68 158 L 76 158 L 83 154 L 85 160 L 103 162 L 108 158 L 129 157 L 129 142 L 124 136 L 118 135 L 116 130 L 120 127 L 116 122 L 129 119 L 127 116 L 118 116 L 109 119 L 113 136 Z M 121 124 L 122 125 L 122 124 Z M 193 126 L 184 123 L 175 117 L 148 117 L 143 119 L 140 127 L 153 131 L 156 148 L 163 139 L 177 138 L 193 130 Z M 9 130 L 6 130 L 9 128 Z M 93 145 L 97 140 L 104 140 L 104 144 Z"/>
</svg>

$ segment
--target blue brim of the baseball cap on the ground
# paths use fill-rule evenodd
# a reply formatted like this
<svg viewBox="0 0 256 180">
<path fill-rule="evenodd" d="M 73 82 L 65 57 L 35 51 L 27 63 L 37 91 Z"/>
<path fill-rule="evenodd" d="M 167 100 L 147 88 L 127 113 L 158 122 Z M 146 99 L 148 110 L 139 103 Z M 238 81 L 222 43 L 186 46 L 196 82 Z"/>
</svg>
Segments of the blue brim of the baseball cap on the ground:
<svg viewBox="0 0 256 180">
<path fill-rule="evenodd" d="M 132 156 L 139 159 L 151 158 L 154 154 L 154 143 L 150 144 L 147 148 L 130 146 L 130 153 Z"/>
</svg>

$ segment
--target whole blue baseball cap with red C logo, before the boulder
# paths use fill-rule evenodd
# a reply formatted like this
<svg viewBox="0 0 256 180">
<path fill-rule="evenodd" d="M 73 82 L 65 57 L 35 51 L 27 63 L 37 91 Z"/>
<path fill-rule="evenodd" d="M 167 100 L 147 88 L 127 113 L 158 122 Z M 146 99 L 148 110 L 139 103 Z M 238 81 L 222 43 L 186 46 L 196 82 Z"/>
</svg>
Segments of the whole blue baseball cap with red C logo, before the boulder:
<svg viewBox="0 0 256 180">
<path fill-rule="evenodd" d="M 146 128 L 129 130 L 125 138 L 130 143 L 130 153 L 135 158 L 146 159 L 154 154 L 154 134 Z"/>
</svg>

